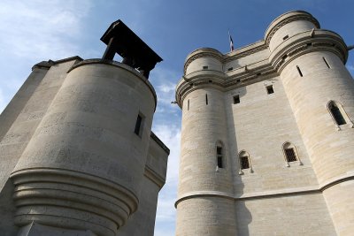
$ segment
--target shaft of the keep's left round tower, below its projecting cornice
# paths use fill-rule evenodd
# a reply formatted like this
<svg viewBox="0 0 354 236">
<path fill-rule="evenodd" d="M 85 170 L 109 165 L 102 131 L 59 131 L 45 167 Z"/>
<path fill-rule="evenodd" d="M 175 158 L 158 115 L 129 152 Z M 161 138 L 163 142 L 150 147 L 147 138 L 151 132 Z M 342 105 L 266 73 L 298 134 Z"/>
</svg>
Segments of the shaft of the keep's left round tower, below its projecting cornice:
<svg viewBox="0 0 354 236">
<path fill-rule="evenodd" d="M 219 89 L 202 88 L 187 95 L 183 102 L 176 235 L 236 233 L 234 200 L 225 198 L 233 194 L 233 183 L 223 97 Z M 217 145 L 222 148 L 221 168 Z M 228 227 L 216 220 L 220 216 Z"/>
</svg>

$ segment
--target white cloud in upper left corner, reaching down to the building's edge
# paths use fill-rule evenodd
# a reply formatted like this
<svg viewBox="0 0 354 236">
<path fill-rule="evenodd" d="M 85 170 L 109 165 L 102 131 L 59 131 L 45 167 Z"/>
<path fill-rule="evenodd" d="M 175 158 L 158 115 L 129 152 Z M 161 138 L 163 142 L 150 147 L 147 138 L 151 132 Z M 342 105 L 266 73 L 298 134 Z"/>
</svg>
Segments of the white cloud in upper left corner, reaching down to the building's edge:
<svg viewBox="0 0 354 236">
<path fill-rule="evenodd" d="M 92 0 L 2 0 L 0 3 L 0 111 L 42 60 L 72 57 L 79 51 L 84 19 Z M 75 42 L 76 41 L 76 42 Z"/>
</svg>

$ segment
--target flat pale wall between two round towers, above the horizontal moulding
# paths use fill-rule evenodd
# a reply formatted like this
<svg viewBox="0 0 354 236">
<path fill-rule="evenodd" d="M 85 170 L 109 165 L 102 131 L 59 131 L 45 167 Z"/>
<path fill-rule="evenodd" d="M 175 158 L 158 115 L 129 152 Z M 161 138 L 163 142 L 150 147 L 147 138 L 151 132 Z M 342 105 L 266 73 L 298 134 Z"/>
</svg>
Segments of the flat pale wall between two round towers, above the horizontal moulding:
<svg viewBox="0 0 354 236">
<path fill-rule="evenodd" d="M 266 86 L 273 86 L 274 93 L 268 95 Z M 240 96 L 240 103 L 233 103 L 234 95 Z M 237 196 L 317 187 L 318 181 L 279 77 L 228 91 L 225 101 Z M 282 150 L 287 141 L 295 145 L 301 162 L 288 166 Z M 238 175 L 242 150 L 250 155 L 252 172 L 245 169 Z"/>
</svg>

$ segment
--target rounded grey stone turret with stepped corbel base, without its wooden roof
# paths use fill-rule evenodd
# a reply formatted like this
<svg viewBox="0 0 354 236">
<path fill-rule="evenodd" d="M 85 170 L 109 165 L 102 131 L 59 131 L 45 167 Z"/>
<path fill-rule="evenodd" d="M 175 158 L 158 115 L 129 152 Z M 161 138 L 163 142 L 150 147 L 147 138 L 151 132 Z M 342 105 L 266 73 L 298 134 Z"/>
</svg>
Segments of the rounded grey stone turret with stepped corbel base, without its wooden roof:
<svg viewBox="0 0 354 236">
<path fill-rule="evenodd" d="M 74 65 L 12 172 L 16 224 L 116 235 L 137 209 L 155 106 L 134 68 Z"/>
</svg>

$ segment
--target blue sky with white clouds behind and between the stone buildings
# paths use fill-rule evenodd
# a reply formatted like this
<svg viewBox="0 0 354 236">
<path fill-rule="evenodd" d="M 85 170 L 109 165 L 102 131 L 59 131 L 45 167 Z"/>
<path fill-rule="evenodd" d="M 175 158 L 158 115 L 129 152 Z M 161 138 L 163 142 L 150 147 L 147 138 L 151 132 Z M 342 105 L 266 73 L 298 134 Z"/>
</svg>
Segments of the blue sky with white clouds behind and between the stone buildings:
<svg viewBox="0 0 354 236">
<path fill-rule="evenodd" d="M 155 236 L 174 235 L 181 110 L 170 102 L 189 52 L 211 47 L 226 53 L 228 28 L 235 48 L 261 40 L 273 19 L 292 10 L 311 12 L 322 28 L 342 35 L 351 45 L 353 9 L 352 0 L 2 0 L 0 111 L 37 62 L 75 55 L 102 57 L 105 45 L 100 37 L 112 21 L 122 19 L 164 59 L 150 73 L 158 93 L 153 131 L 171 149 L 167 181 L 159 194 Z M 347 63 L 351 73 L 353 51 Z"/>
</svg>

